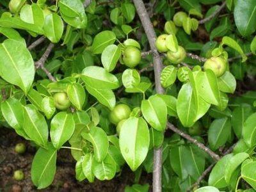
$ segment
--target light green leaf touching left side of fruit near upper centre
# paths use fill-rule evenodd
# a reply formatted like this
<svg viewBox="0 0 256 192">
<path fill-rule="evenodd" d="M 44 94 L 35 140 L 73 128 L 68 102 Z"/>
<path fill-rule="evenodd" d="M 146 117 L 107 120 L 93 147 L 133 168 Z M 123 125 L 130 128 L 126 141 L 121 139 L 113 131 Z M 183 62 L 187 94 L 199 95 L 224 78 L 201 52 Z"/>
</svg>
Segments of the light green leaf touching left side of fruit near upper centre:
<svg viewBox="0 0 256 192">
<path fill-rule="evenodd" d="M 108 45 L 101 54 L 101 62 L 103 67 L 111 72 L 115 69 L 116 63 L 121 56 L 121 47 L 116 45 Z"/>
</svg>

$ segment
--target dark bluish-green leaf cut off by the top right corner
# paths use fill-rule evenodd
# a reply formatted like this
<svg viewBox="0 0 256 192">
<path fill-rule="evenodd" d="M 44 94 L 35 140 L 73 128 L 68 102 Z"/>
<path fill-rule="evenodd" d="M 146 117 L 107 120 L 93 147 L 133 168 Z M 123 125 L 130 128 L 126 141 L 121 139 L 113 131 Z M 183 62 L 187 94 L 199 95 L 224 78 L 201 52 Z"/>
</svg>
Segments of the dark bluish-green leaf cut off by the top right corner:
<svg viewBox="0 0 256 192">
<path fill-rule="evenodd" d="M 243 15 L 243 17 L 241 17 L 241 15 Z M 251 35 L 256 29 L 256 1 L 237 0 L 234 9 L 234 18 L 237 29 L 241 35 Z"/>
</svg>

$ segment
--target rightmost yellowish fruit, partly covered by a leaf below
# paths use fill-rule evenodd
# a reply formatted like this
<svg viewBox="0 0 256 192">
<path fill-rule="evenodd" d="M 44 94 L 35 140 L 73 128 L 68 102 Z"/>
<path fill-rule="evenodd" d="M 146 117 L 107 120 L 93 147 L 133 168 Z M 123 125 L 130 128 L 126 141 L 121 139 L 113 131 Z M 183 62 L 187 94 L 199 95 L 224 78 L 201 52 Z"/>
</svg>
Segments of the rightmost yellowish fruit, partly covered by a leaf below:
<svg viewBox="0 0 256 192">
<path fill-rule="evenodd" d="M 227 70 L 227 62 L 220 57 L 209 58 L 204 63 L 204 70 L 207 69 L 211 69 L 217 77 L 220 77 Z"/>
</svg>

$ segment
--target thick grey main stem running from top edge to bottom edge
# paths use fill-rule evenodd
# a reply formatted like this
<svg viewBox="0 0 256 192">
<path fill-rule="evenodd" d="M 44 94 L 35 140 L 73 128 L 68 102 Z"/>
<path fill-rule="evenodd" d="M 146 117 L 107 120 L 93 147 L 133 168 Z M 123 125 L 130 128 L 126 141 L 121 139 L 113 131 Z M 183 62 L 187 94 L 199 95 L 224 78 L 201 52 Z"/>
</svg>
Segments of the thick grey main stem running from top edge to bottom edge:
<svg viewBox="0 0 256 192">
<path fill-rule="evenodd" d="M 150 45 L 150 49 L 153 54 L 153 63 L 154 63 L 154 74 L 155 74 L 155 82 L 156 82 L 156 92 L 163 94 L 164 89 L 160 83 L 160 74 L 163 68 L 163 63 L 161 60 L 161 56 L 157 52 L 156 49 L 156 33 L 154 31 L 152 22 L 148 16 L 147 10 L 142 0 L 133 0 L 134 5 L 136 7 L 137 13 L 140 17 L 141 24 L 144 28 L 144 31 L 147 35 L 148 42 Z M 161 184 L 161 176 L 162 176 L 162 147 L 154 149 L 154 166 L 153 166 L 153 191 L 161 192 L 162 184 Z"/>
</svg>

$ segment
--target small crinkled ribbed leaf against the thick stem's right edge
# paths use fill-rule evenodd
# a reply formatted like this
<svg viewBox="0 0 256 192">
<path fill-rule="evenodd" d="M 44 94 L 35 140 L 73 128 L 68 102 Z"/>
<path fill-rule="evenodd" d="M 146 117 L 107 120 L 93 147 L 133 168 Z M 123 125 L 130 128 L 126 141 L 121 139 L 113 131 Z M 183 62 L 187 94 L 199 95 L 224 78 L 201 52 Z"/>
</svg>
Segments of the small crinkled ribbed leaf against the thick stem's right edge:
<svg viewBox="0 0 256 192">
<path fill-rule="evenodd" d="M 168 65 L 164 67 L 164 69 L 161 72 L 161 85 L 166 88 L 168 86 L 171 86 L 177 78 L 177 68 L 173 65 Z"/>
</svg>

